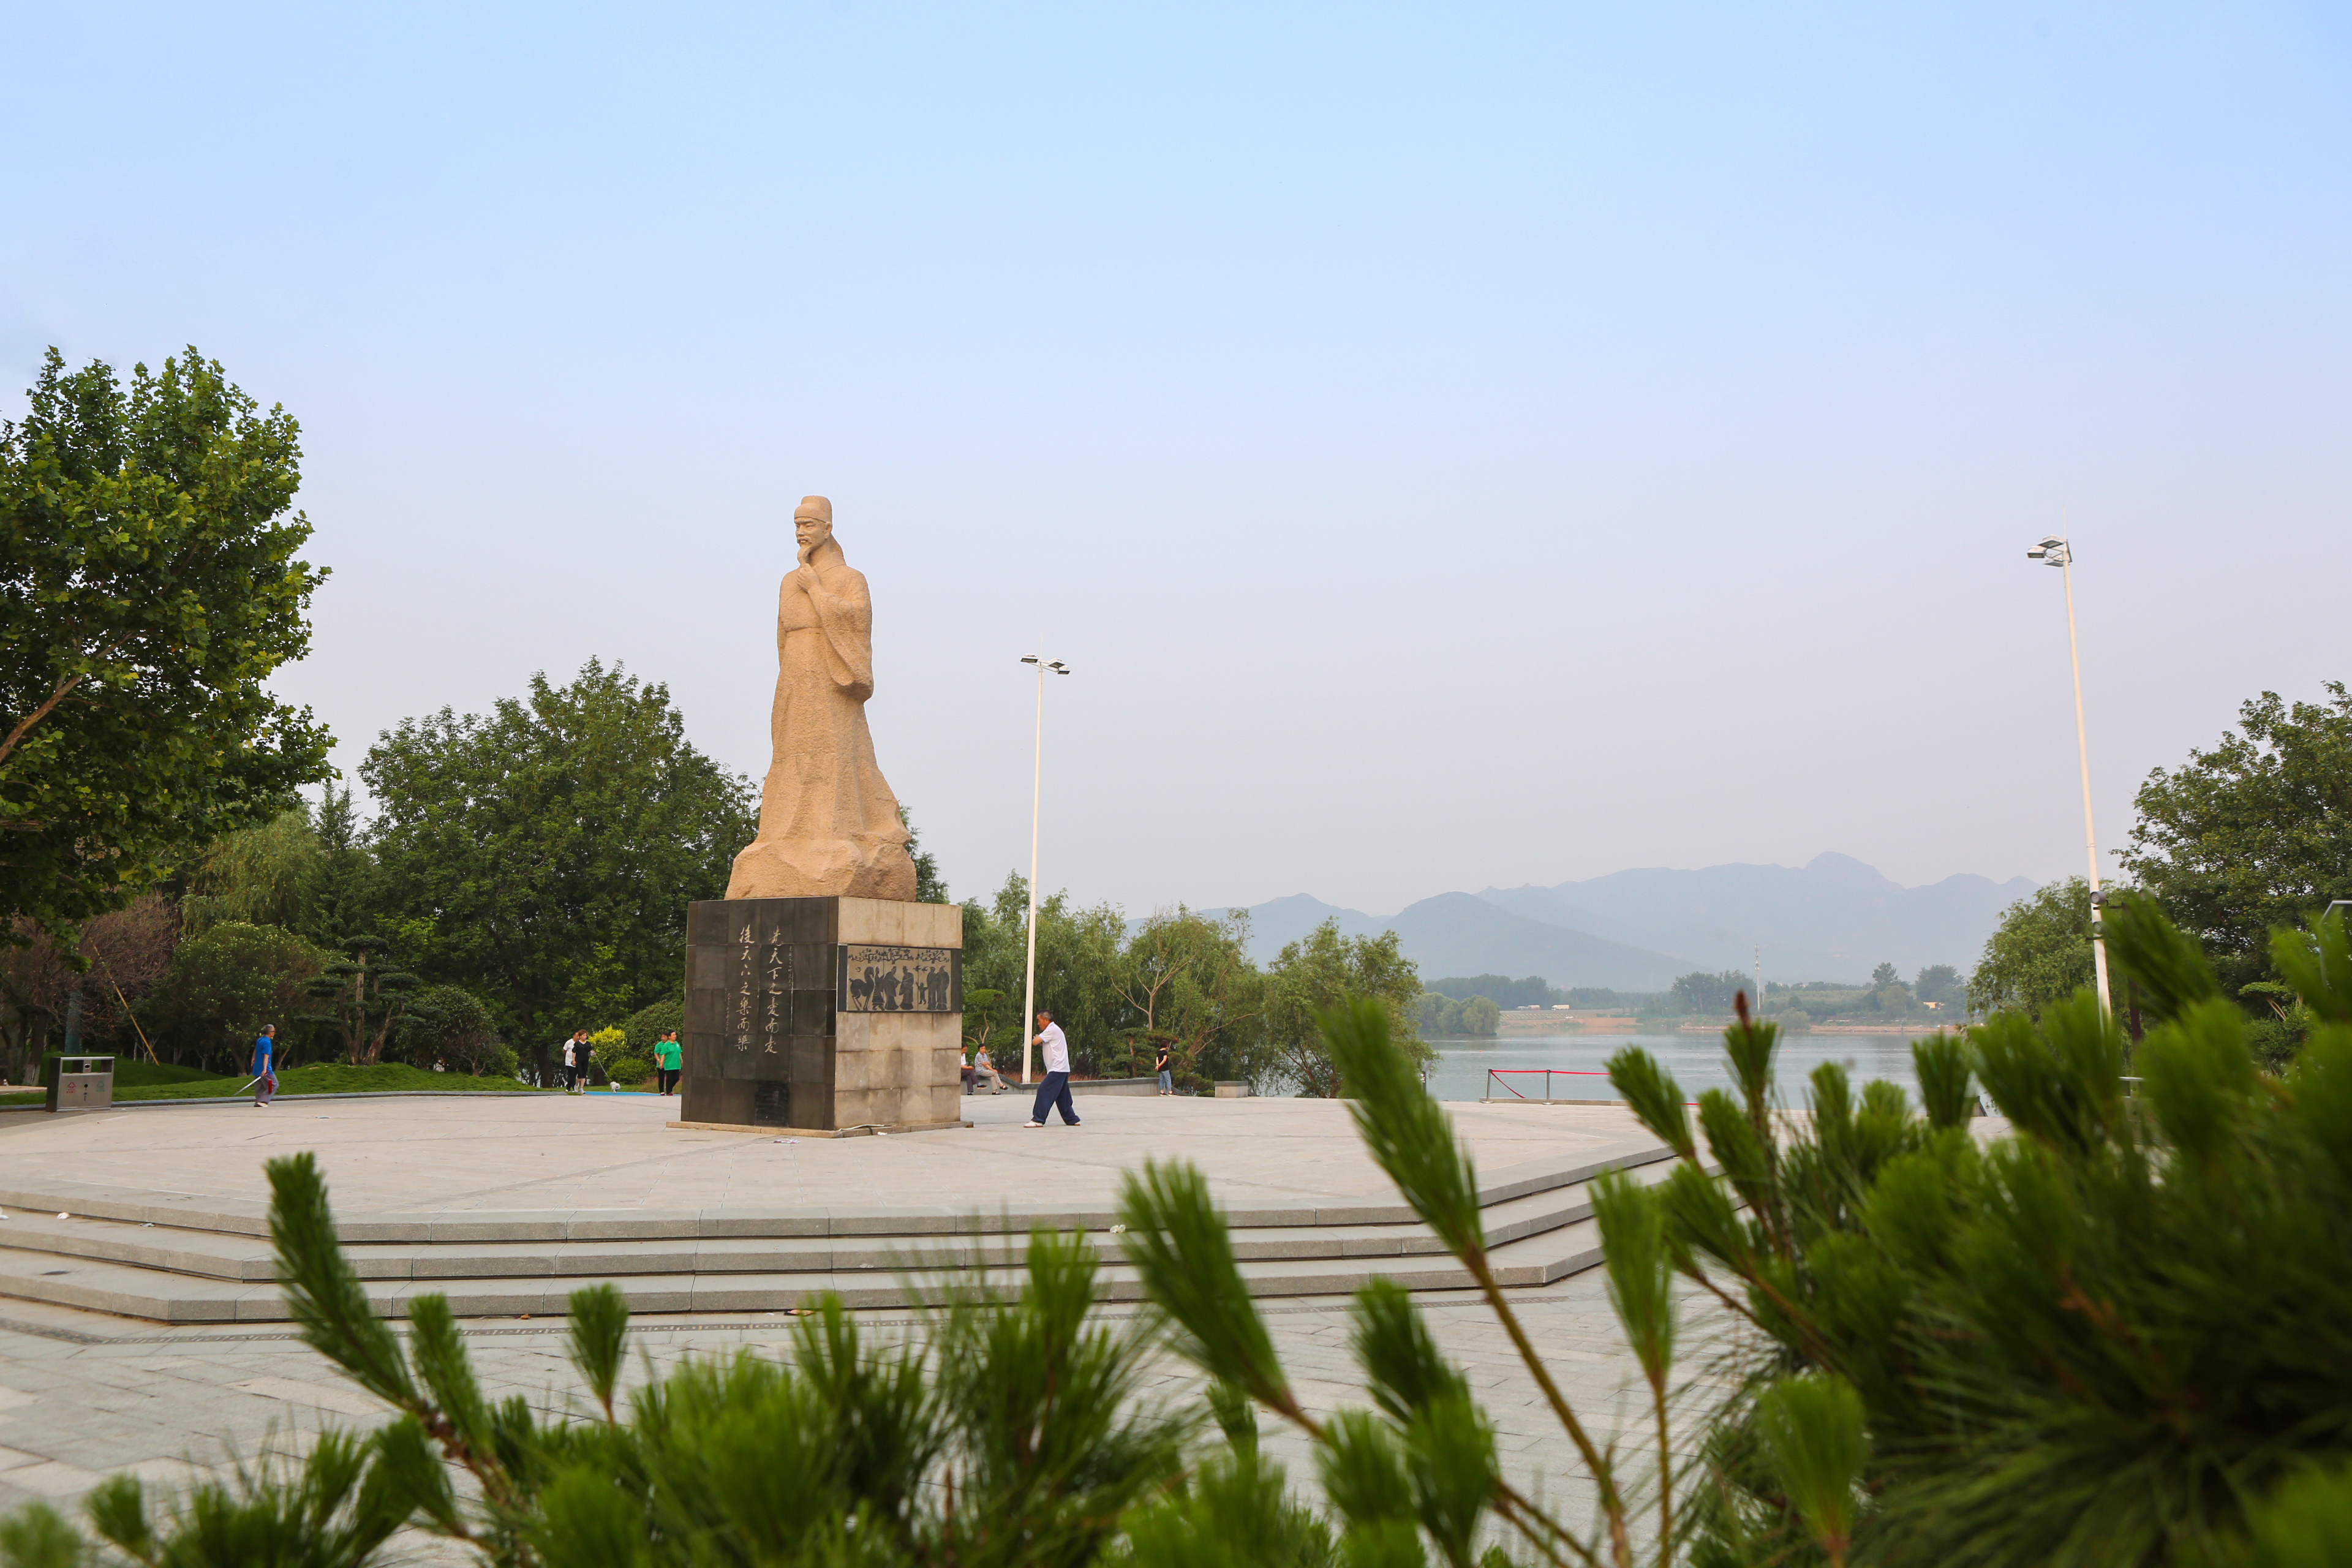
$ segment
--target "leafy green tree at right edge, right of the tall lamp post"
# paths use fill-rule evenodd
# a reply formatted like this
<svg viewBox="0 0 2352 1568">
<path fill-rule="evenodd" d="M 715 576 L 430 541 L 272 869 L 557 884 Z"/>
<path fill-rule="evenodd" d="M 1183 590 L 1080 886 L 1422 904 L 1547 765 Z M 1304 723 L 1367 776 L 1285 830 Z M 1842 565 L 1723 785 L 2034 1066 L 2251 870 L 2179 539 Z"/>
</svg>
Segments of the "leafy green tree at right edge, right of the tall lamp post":
<svg viewBox="0 0 2352 1568">
<path fill-rule="evenodd" d="M 2265 691 L 2220 745 L 2140 785 L 2119 856 L 2206 950 L 2232 997 L 2279 980 L 2270 929 L 2352 898 L 2352 691 L 2321 703 Z"/>
</svg>

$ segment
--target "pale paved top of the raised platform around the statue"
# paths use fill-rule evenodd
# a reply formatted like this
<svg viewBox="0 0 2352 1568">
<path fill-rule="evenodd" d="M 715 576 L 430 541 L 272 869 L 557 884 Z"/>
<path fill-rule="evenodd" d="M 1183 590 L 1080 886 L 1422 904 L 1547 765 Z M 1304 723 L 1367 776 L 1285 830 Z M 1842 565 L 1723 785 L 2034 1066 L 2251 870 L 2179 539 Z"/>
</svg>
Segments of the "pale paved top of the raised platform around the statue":
<svg viewBox="0 0 2352 1568">
<path fill-rule="evenodd" d="M 1021 1126 L 1030 1098 L 962 1100 L 971 1128 L 776 1138 L 666 1126 L 661 1095 L 289 1098 L 0 1119 L 0 1192 L 111 1192 L 263 1215 L 261 1166 L 313 1150 L 339 1220 L 1105 1208 L 1145 1159 L 1190 1159 L 1228 1211 L 1395 1201 L 1336 1100 L 1080 1095 L 1082 1126 Z M 1616 1107 L 1451 1105 L 1482 1173 L 1653 1147 Z M 160 1215 L 155 1215 L 160 1218 Z"/>
</svg>

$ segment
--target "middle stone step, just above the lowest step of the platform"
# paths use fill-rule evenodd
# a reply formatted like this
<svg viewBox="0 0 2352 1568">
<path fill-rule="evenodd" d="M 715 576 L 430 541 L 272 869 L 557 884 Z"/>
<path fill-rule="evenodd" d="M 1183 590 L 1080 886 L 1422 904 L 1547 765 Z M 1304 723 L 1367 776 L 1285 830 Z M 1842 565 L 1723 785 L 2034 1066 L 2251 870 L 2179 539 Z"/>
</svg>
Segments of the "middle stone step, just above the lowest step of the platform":
<svg viewBox="0 0 2352 1568">
<path fill-rule="evenodd" d="M 1635 1180 L 1672 1171 L 1635 1168 Z M 1489 1204 L 1489 1246 L 1573 1225 L 1592 1213 L 1590 1182 Z M 1098 1246 L 1108 1225 L 1096 1227 Z M 0 1232 L 12 1251 L 120 1262 L 235 1284 L 275 1279 L 270 1244 L 179 1225 L 14 1213 Z M 1244 1260 L 1409 1258 L 1442 1246 L 1418 1220 L 1381 1225 L 1235 1225 Z M 630 1274 L 873 1274 L 903 1267 L 1016 1267 L 1025 1234 L 913 1232 L 898 1237 L 677 1237 L 612 1241 L 355 1241 L 360 1279 L 619 1279 Z M 1110 1251 L 1105 1246 L 1105 1251 Z M 0 1281 L 0 1293 L 5 1293 Z"/>
</svg>

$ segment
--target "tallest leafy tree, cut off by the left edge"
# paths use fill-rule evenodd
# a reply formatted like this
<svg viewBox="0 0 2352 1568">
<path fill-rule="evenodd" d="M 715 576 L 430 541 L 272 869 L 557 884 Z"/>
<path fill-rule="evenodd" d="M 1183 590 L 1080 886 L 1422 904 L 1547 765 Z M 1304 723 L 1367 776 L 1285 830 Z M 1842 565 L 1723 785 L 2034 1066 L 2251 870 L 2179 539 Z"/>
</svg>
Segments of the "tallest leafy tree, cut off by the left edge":
<svg viewBox="0 0 2352 1568">
<path fill-rule="evenodd" d="M 296 423 L 193 348 L 0 423 L 0 900 L 64 936 L 327 776 L 263 686 L 310 646 Z"/>
</svg>

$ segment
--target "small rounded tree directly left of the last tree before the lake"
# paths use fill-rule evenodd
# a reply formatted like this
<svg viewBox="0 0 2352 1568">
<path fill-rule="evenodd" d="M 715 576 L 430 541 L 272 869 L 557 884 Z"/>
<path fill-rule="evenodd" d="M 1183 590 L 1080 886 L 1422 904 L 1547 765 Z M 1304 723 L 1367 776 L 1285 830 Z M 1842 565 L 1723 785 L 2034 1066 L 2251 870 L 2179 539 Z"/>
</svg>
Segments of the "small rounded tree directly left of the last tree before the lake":
<svg viewBox="0 0 2352 1568">
<path fill-rule="evenodd" d="M 1178 1084 L 1247 1079 L 1263 1039 L 1265 976 L 1249 961 L 1249 914 L 1176 905 L 1127 943 L 1122 997 L 1141 1034 L 1169 1048 Z"/>
</svg>

